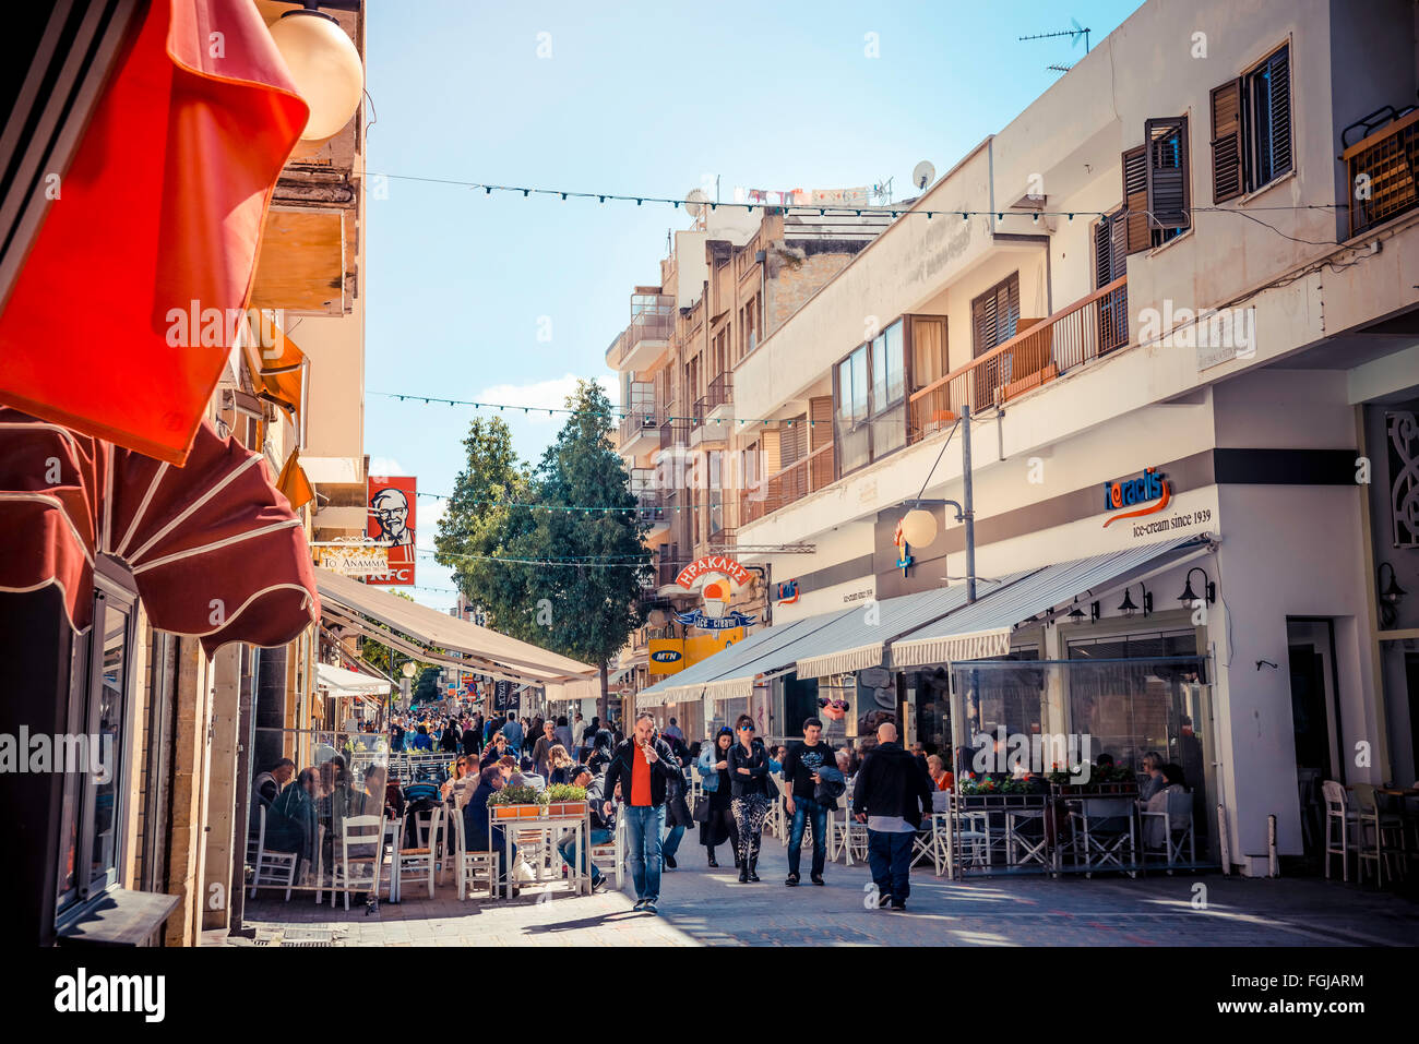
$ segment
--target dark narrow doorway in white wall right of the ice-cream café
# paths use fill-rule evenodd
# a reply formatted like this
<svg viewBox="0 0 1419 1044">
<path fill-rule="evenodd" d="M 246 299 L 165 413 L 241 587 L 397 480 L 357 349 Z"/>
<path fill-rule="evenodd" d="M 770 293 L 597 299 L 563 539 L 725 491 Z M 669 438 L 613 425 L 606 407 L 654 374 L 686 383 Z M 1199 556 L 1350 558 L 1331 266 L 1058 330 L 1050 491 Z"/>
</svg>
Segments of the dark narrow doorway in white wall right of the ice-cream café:
<svg viewBox="0 0 1419 1044">
<path fill-rule="evenodd" d="M 1286 621 L 1286 645 L 1301 841 L 1307 857 L 1318 857 L 1325 837 L 1321 783 L 1328 779 L 1345 783 L 1345 759 L 1338 746 L 1342 733 L 1334 623 L 1290 617 Z"/>
</svg>

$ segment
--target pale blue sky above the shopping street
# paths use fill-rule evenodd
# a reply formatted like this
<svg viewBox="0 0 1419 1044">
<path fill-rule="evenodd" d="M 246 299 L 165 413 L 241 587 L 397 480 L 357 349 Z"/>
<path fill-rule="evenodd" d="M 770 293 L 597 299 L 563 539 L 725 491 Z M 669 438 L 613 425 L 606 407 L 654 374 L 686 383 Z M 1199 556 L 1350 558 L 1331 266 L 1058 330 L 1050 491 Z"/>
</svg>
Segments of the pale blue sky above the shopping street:
<svg viewBox="0 0 1419 1044">
<path fill-rule="evenodd" d="M 612 382 L 606 346 L 630 292 L 660 281 L 668 204 L 485 194 L 491 183 L 719 199 L 839 189 L 921 160 L 944 174 L 1039 96 L 1051 62 L 1084 54 L 1139 0 L 995 3 L 492 4 L 369 0 L 365 451 L 372 474 L 448 494 L 471 407 L 394 394 L 541 406 L 505 410 L 535 461 L 578 377 Z M 414 180 L 430 179 L 430 180 Z M 612 392 L 613 401 L 616 393 Z M 481 411 L 487 414 L 488 411 Z M 495 410 L 492 413 L 497 413 Z M 440 502 L 419 501 L 431 549 Z M 424 604 L 455 600 L 419 556 Z"/>
</svg>

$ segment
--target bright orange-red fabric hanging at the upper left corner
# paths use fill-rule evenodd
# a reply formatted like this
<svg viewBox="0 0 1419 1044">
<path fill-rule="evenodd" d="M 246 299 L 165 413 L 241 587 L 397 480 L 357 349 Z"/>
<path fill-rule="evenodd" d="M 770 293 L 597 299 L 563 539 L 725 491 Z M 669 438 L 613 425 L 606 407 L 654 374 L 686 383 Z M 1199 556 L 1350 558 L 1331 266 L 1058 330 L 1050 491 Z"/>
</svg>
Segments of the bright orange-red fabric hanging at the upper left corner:
<svg viewBox="0 0 1419 1044">
<path fill-rule="evenodd" d="M 0 401 L 182 464 L 307 115 L 251 0 L 152 0 L 0 312 Z"/>
</svg>

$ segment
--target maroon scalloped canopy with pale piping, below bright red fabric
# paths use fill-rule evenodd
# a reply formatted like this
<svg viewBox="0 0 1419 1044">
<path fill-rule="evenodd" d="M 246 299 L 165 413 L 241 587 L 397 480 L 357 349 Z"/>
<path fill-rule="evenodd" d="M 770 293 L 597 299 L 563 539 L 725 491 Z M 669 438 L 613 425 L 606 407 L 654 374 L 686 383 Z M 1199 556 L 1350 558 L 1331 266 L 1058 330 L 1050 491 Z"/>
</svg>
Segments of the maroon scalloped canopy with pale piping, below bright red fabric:
<svg viewBox="0 0 1419 1044">
<path fill-rule="evenodd" d="M 282 645 L 319 618 L 301 521 L 265 461 L 210 424 L 184 467 L 0 407 L 0 590 L 58 584 L 91 623 L 94 557 L 128 563 L 153 627 Z"/>
</svg>

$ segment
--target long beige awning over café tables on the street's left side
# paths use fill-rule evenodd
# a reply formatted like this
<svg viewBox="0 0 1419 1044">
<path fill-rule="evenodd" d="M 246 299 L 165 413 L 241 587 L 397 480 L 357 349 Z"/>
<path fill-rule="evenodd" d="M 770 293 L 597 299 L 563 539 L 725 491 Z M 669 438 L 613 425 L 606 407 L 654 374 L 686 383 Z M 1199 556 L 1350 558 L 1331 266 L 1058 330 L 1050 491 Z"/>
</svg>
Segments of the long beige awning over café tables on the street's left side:
<svg viewBox="0 0 1419 1044">
<path fill-rule="evenodd" d="M 529 685 L 587 679 L 596 674 L 596 668 L 590 664 L 478 627 L 328 569 L 315 569 L 315 579 L 321 597 L 325 599 L 329 614 L 336 623 L 352 624 L 376 641 L 404 635 L 416 645 L 463 652 L 468 657 L 450 660 L 431 655 L 429 658 L 433 662 L 450 662 L 467 671 L 509 677 Z M 394 634 L 377 624 L 392 628 Z M 400 643 L 394 644 L 397 647 Z"/>
</svg>

